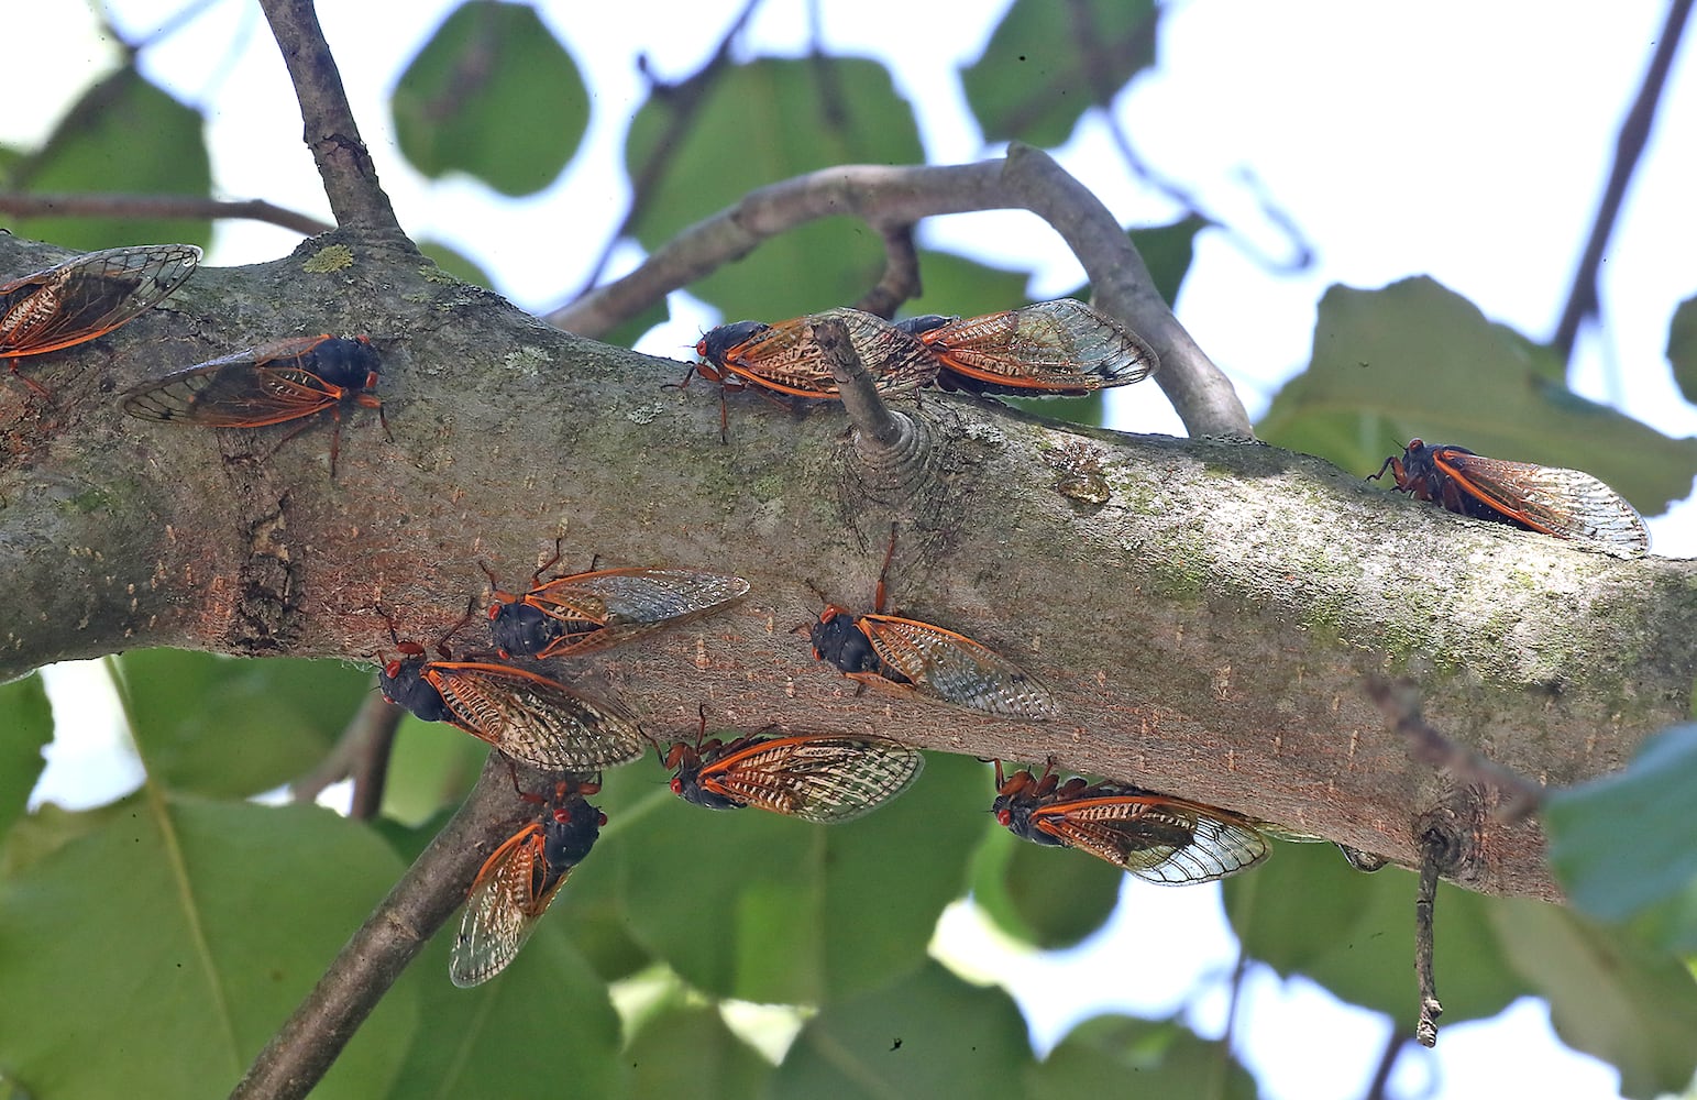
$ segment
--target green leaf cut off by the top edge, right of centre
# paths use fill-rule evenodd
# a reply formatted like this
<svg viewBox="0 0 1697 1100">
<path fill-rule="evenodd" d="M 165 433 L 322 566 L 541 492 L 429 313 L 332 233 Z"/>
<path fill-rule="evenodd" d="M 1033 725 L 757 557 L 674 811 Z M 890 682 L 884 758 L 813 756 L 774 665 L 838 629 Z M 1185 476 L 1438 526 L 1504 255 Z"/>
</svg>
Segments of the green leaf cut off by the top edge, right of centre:
<svg viewBox="0 0 1697 1100">
<path fill-rule="evenodd" d="M 1066 143 L 1084 110 L 1154 68 L 1157 20 L 1152 0 L 1015 0 L 984 54 L 961 71 L 984 138 Z"/>
</svg>

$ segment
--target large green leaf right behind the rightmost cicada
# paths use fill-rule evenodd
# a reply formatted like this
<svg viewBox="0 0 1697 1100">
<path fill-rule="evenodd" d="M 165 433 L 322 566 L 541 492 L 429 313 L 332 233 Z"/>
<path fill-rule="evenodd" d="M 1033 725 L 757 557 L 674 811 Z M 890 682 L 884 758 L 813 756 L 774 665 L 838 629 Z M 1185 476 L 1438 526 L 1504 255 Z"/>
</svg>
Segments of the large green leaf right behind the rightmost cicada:
<svg viewBox="0 0 1697 1100">
<path fill-rule="evenodd" d="M 1414 436 L 1571 467 L 1656 514 L 1690 494 L 1697 440 L 1670 440 L 1551 379 L 1561 363 L 1431 278 L 1332 287 L 1313 362 L 1273 399 L 1268 443 L 1369 474 Z"/>
</svg>

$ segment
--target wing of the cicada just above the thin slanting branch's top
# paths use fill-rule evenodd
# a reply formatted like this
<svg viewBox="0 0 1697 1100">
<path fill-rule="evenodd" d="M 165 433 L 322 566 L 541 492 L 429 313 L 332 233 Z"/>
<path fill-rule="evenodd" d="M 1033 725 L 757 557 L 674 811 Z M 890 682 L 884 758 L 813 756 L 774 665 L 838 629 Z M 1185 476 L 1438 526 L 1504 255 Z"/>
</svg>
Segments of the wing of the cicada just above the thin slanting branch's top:
<svg viewBox="0 0 1697 1100">
<path fill-rule="evenodd" d="M 455 725 L 509 757 L 548 771 L 599 771 L 648 750 L 636 718 L 535 672 L 473 662 L 431 662 L 424 679 Z"/>
</svg>

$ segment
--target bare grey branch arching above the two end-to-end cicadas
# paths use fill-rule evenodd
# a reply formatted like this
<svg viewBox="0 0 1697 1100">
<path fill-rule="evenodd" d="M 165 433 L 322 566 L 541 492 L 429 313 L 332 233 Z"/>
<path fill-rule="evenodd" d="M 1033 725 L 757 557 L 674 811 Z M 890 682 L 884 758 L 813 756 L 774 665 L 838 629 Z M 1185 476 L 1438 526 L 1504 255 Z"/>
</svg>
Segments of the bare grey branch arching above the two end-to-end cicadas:
<svg viewBox="0 0 1697 1100">
<path fill-rule="evenodd" d="M 747 256 L 760 241 L 818 217 L 855 216 L 872 226 L 896 226 L 938 214 L 1006 209 L 1030 210 L 1054 226 L 1084 267 L 1096 306 L 1154 345 L 1161 356 L 1156 382 L 1191 435 L 1252 435 L 1237 390 L 1173 316 L 1108 207 L 1047 153 L 1027 146 L 1010 148 L 1005 160 L 976 165 L 847 165 L 762 187 L 682 231 L 624 278 L 555 311 L 548 321 L 580 336 L 597 336 L 669 292 Z"/>
</svg>

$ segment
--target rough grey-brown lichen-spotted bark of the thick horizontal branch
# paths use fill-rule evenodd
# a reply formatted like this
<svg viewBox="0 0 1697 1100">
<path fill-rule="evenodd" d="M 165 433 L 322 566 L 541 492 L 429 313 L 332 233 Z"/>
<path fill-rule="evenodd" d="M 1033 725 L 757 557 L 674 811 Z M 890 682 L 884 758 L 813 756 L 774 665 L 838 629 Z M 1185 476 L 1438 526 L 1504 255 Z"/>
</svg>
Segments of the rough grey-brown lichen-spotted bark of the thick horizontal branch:
<svg viewBox="0 0 1697 1100">
<path fill-rule="evenodd" d="M 343 251 L 346 250 L 346 251 Z M 0 270 L 61 258 L 0 238 Z M 339 265 L 346 260 L 344 265 Z M 331 270 L 324 270 L 331 268 Z M 288 428 L 126 418 L 122 389 L 246 345 L 370 333 L 375 414 Z M 0 676 L 141 645 L 248 655 L 434 642 L 482 599 L 562 565 L 738 572 L 733 611 L 560 665 L 657 737 L 787 723 L 1042 760 L 1280 822 L 1415 866 L 1448 823 L 1448 878 L 1553 896 L 1532 823 L 1414 764 L 1363 691 L 1407 674 L 1454 740 L 1551 784 L 1619 767 L 1690 711 L 1697 577 L 1393 497 L 1241 441 L 1049 424 L 925 394 L 923 446 L 869 469 L 842 406 L 720 394 L 686 367 L 562 334 L 404 246 L 346 231 L 253 268 L 202 270 L 131 326 L 25 360 L 53 390 L 0 394 Z M 326 418 L 328 419 L 328 418 Z M 1106 499 L 1101 501 L 1103 492 Z M 891 601 L 1037 672 L 1064 718 L 1028 725 L 855 694 L 804 633 Z M 487 647 L 480 621 L 456 638 Z"/>
</svg>

